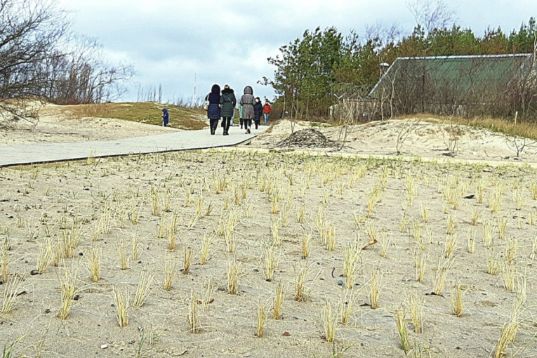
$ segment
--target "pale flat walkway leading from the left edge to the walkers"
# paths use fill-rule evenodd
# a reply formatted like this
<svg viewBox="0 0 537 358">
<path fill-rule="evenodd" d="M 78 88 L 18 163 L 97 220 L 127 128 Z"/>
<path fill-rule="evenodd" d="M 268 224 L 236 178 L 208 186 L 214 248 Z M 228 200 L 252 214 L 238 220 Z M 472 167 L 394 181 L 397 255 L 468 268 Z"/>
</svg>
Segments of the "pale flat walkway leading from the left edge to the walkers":
<svg viewBox="0 0 537 358">
<path fill-rule="evenodd" d="M 211 135 L 206 128 L 119 140 L 6 145 L 0 146 L 0 167 L 88 157 L 230 147 L 251 140 L 266 128 L 268 127 L 261 126 L 259 130 L 253 129 L 251 134 L 246 134 L 238 126 L 232 126 L 230 135 L 222 135 L 222 128 L 218 126 L 216 135 Z"/>
</svg>

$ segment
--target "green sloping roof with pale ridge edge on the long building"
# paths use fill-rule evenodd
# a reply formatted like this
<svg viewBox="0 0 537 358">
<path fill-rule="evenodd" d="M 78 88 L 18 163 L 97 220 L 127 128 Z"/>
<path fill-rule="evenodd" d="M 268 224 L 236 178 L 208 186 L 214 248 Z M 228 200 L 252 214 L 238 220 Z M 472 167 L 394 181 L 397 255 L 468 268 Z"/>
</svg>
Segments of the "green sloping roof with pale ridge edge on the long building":
<svg viewBox="0 0 537 358">
<path fill-rule="evenodd" d="M 378 98 L 380 91 L 391 88 L 404 92 L 421 88 L 421 91 L 462 93 L 468 98 L 472 93 L 502 91 L 530 66 L 529 53 L 397 58 L 369 96 Z"/>
</svg>

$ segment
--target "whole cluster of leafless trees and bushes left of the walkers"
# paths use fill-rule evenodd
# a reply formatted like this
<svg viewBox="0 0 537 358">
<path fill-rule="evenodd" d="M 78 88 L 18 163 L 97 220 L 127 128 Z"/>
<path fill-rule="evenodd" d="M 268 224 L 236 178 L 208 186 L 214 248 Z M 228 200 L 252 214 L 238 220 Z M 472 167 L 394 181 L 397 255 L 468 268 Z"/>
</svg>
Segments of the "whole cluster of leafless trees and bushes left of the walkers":
<svg viewBox="0 0 537 358">
<path fill-rule="evenodd" d="M 0 121 L 27 119 L 27 101 L 99 103 L 124 91 L 130 65 L 102 60 L 97 41 L 72 34 L 53 0 L 0 0 Z"/>
</svg>

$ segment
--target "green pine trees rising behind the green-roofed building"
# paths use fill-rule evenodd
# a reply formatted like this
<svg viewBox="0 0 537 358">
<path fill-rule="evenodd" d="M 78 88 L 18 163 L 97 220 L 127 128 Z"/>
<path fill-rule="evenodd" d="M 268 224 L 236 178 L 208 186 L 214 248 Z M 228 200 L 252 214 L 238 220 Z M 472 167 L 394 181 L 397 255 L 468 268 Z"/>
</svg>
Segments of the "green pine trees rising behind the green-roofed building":
<svg viewBox="0 0 537 358">
<path fill-rule="evenodd" d="M 326 117 L 342 97 L 364 98 L 377 83 L 381 64 L 398 57 L 533 53 L 537 25 L 530 18 L 505 34 L 500 27 L 477 36 L 472 29 L 451 24 L 451 12 L 441 0 L 416 1 L 410 6 L 417 25 L 401 36 L 397 27 L 369 27 L 363 37 L 336 27 L 306 30 L 302 37 L 268 58 L 274 77 L 263 78 L 278 95 L 277 106 L 293 117 Z"/>
</svg>

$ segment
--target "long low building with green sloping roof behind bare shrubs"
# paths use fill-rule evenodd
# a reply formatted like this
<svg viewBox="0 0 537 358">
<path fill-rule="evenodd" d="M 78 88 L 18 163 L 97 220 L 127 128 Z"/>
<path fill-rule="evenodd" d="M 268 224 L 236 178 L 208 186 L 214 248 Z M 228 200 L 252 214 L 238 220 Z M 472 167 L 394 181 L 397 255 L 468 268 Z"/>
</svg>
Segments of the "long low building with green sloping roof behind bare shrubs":
<svg viewBox="0 0 537 358">
<path fill-rule="evenodd" d="M 432 113 L 537 119 L 532 54 L 397 58 L 369 93 L 382 117 Z M 380 104 L 382 106 L 380 106 Z"/>
</svg>

